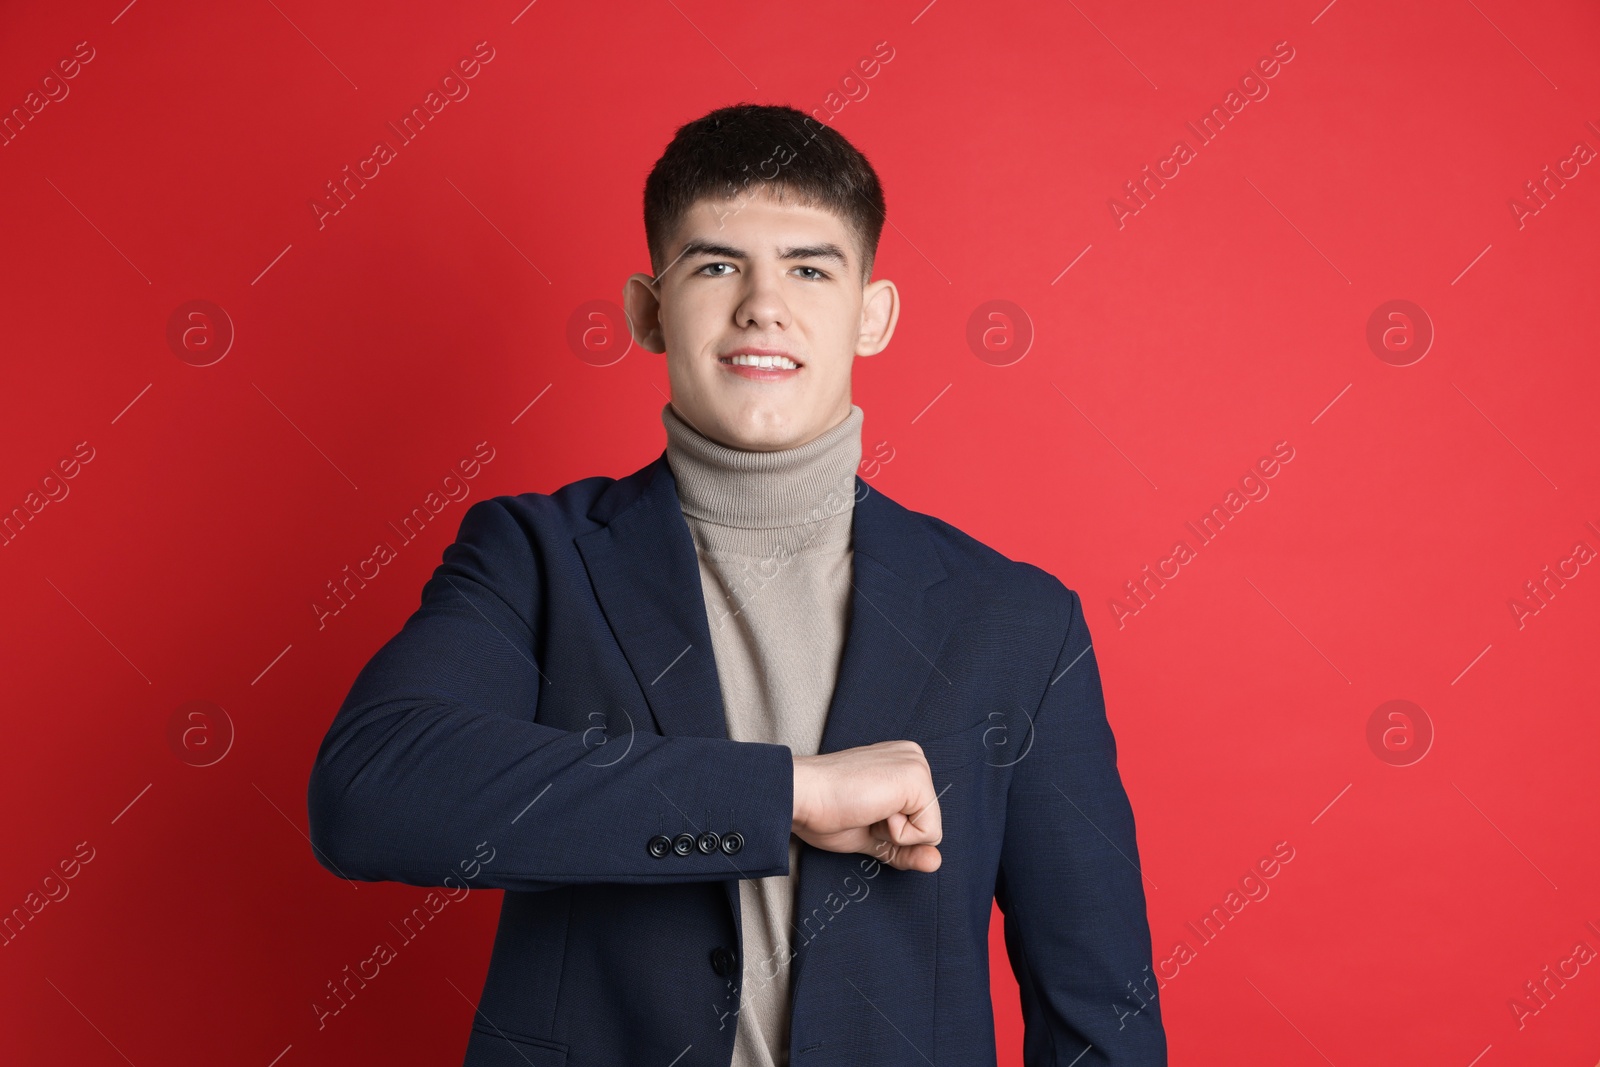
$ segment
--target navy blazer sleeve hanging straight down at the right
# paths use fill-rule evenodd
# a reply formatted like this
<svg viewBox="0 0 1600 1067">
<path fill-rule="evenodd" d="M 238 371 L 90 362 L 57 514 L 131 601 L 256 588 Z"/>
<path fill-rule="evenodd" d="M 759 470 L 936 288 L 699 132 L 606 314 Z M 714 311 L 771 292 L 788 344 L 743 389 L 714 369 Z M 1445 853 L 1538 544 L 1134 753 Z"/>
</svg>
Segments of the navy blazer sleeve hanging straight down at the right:
<svg viewBox="0 0 1600 1067">
<path fill-rule="evenodd" d="M 1059 584 L 1059 582 L 1058 582 Z M 1166 1064 L 1133 808 L 1078 595 L 1014 766 L 995 899 L 1029 1067 Z"/>
</svg>

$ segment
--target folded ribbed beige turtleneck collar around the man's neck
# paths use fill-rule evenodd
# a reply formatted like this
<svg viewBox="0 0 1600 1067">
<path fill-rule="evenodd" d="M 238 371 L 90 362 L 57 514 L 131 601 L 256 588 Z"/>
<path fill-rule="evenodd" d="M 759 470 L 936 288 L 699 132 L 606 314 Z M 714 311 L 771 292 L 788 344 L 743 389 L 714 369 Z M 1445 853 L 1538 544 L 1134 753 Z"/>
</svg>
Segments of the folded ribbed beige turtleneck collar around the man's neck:
<svg viewBox="0 0 1600 1067">
<path fill-rule="evenodd" d="M 813 526 L 808 542 L 848 536 L 864 421 L 862 410 L 850 405 L 838 426 L 805 445 L 763 453 L 714 442 L 662 405 L 667 466 L 683 515 L 736 530 Z"/>
</svg>

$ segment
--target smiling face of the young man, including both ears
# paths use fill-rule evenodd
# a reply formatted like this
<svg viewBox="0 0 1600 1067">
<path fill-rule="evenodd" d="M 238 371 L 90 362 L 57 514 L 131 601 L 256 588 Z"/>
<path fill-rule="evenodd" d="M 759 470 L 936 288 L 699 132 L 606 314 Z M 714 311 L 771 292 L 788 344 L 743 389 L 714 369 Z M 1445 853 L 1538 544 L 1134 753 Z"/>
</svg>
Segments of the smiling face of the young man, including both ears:
<svg viewBox="0 0 1600 1067">
<path fill-rule="evenodd" d="M 862 285 L 838 216 L 766 194 L 699 200 L 666 251 L 661 277 L 632 275 L 624 302 L 635 341 L 667 354 L 672 406 L 690 426 L 773 451 L 850 414 L 851 363 L 888 346 L 899 294 L 885 278 Z"/>
</svg>

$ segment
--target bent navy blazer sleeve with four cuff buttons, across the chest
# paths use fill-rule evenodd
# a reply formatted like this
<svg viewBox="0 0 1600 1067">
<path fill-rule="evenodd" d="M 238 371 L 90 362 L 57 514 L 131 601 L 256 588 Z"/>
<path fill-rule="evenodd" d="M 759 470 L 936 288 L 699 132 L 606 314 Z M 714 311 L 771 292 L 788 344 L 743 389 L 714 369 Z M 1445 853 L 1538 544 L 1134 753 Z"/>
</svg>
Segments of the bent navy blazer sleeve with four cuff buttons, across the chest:
<svg viewBox="0 0 1600 1067">
<path fill-rule="evenodd" d="M 307 785 L 317 861 L 342 878 L 440 886 L 486 843 L 474 885 L 520 891 L 789 873 L 787 745 L 534 721 L 542 590 L 507 499 L 467 509 L 421 606 L 328 728 Z M 707 829 L 738 830 L 742 848 L 648 848 Z"/>
</svg>

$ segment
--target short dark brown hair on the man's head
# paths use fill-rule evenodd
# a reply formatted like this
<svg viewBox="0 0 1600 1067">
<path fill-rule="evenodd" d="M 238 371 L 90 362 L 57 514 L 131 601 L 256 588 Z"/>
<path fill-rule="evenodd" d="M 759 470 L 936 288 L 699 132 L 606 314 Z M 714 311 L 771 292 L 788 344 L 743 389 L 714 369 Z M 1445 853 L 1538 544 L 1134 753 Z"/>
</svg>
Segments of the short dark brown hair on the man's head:
<svg viewBox="0 0 1600 1067">
<path fill-rule="evenodd" d="M 645 243 L 658 275 L 667 240 L 699 200 L 792 195 L 832 211 L 856 237 L 861 282 L 872 277 L 883 234 L 883 187 L 850 141 L 781 104 L 733 104 L 678 126 L 645 179 Z"/>
</svg>

